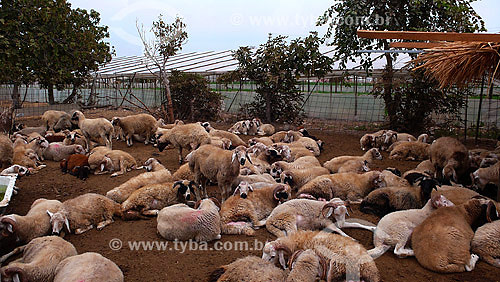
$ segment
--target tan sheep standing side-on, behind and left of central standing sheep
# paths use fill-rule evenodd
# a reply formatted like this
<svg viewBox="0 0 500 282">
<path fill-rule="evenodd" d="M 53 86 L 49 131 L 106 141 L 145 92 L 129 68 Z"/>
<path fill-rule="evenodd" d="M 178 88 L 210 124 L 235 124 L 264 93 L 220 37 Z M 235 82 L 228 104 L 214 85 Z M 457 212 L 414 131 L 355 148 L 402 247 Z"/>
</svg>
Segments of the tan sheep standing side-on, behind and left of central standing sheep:
<svg viewBox="0 0 500 282">
<path fill-rule="evenodd" d="M 231 140 L 232 141 L 232 140 Z M 165 131 L 158 138 L 158 150 L 162 152 L 165 147 L 172 144 L 179 150 L 179 164 L 182 164 L 182 149 L 194 150 L 202 144 L 209 144 L 210 137 L 203 126 L 198 123 L 177 125 Z M 234 145 L 234 143 L 233 143 Z"/>
</svg>

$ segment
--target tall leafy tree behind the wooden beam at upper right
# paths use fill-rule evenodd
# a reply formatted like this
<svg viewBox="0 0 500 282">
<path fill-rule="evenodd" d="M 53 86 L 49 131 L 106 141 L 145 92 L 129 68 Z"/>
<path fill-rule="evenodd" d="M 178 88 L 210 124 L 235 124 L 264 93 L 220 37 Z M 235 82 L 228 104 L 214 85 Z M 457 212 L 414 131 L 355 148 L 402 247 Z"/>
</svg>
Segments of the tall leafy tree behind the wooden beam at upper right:
<svg viewBox="0 0 500 282">
<path fill-rule="evenodd" d="M 358 58 L 368 70 L 373 63 L 360 49 L 388 50 L 390 40 L 359 38 L 357 30 L 395 31 L 483 31 L 484 22 L 474 11 L 475 0 L 342 0 L 336 1 L 319 17 L 318 25 L 328 25 L 325 38 L 335 48 L 334 57 L 340 67 Z M 386 53 L 383 74 L 383 94 L 391 125 L 397 124 L 398 102 L 393 96 L 393 64 L 397 54 Z"/>
</svg>

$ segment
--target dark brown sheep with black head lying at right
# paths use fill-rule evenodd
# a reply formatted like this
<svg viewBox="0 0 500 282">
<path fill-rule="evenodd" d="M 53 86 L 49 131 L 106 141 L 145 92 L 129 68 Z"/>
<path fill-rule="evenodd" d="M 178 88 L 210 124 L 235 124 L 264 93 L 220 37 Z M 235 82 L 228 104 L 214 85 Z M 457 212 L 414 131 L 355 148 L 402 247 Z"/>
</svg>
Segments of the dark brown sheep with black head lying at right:
<svg viewBox="0 0 500 282">
<path fill-rule="evenodd" d="M 418 186 L 384 187 L 368 194 L 361 202 L 360 210 L 377 216 L 393 211 L 420 209 L 431 198 L 432 190 L 437 190 L 434 179 L 423 178 Z"/>
</svg>

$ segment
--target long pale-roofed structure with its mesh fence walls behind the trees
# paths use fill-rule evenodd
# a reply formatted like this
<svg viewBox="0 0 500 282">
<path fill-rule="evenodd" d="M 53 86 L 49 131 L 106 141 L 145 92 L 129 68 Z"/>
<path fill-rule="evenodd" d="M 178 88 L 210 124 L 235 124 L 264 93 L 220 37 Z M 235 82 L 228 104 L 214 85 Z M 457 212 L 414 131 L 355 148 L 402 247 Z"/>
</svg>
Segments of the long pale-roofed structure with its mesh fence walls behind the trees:
<svg viewBox="0 0 500 282">
<path fill-rule="evenodd" d="M 323 52 L 329 55 L 333 49 L 329 47 Z M 405 68 L 409 57 L 405 59 L 396 63 L 396 77 L 409 75 L 409 70 Z M 168 68 L 205 77 L 210 88 L 222 94 L 224 101 L 221 111 L 242 115 L 245 113 L 245 104 L 255 98 L 255 83 L 248 80 L 218 83 L 219 76 L 236 69 L 237 65 L 238 62 L 228 50 L 176 55 L 169 59 Z M 375 69 L 369 74 L 354 63 L 348 68 L 348 71 L 335 70 L 321 79 L 300 79 L 297 87 L 303 94 L 305 117 L 325 121 L 331 130 L 376 130 L 387 120 L 383 99 L 371 94 L 374 84 L 382 76 L 383 61 L 379 57 L 374 63 Z M 47 90 L 38 84 L 19 86 L 22 107 L 15 110 L 15 119 L 38 118 L 48 109 L 70 111 L 95 107 L 160 107 L 166 99 L 159 80 L 152 74 L 155 71 L 145 57 L 115 57 L 75 92 L 72 85 L 61 90 L 54 89 L 54 105 L 49 105 Z M 473 94 L 467 98 L 460 117 L 435 116 L 436 124 L 450 131 L 450 134 L 460 135 L 465 128 L 479 125 L 481 136 L 496 137 L 500 127 L 500 90 L 494 85 L 486 93 L 486 88 L 484 85 L 481 87 L 480 83 L 471 86 Z M 0 86 L 0 105 L 4 110 L 12 104 L 13 90 L 13 85 Z"/>
</svg>

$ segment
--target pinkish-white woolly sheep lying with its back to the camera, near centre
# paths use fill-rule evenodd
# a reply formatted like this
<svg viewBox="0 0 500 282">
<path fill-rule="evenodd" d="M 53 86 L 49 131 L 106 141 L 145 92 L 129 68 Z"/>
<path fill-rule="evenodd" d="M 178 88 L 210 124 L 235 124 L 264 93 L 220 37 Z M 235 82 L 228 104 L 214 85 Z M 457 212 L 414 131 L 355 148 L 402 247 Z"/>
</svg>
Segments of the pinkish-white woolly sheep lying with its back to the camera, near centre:
<svg viewBox="0 0 500 282">
<path fill-rule="evenodd" d="M 158 233 L 167 240 L 208 242 L 221 238 L 220 216 L 217 200 L 201 201 L 198 208 L 177 204 L 158 213 Z"/>
</svg>

